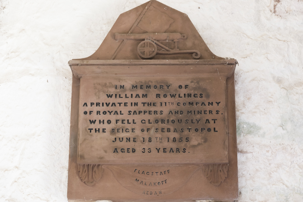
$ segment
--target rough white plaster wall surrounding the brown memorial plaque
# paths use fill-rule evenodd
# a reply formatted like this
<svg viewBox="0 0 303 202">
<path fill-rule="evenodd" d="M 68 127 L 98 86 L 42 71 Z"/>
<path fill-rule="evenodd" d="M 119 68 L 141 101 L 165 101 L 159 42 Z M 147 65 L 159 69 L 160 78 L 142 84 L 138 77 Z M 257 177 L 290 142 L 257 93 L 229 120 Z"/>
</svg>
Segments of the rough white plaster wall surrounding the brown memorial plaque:
<svg viewBox="0 0 303 202">
<path fill-rule="evenodd" d="M 0 0 L 0 201 L 67 201 L 67 62 L 145 1 Z M 239 62 L 238 201 L 303 201 L 303 1 L 161 2 Z"/>
</svg>

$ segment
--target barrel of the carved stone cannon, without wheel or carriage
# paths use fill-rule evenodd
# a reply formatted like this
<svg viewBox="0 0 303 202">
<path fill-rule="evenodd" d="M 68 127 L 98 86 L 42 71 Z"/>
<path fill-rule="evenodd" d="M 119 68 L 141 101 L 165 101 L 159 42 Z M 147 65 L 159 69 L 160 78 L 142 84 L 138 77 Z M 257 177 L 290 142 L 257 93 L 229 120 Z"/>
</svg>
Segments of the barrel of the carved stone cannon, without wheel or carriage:
<svg viewBox="0 0 303 202">
<path fill-rule="evenodd" d="M 115 33 L 115 40 L 146 40 L 152 38 L 157 41 L 174 41 L 186 39 L 185 34 L 180 33 L 144 33 L 144 34 L 119 34 Z"/>
</svg>

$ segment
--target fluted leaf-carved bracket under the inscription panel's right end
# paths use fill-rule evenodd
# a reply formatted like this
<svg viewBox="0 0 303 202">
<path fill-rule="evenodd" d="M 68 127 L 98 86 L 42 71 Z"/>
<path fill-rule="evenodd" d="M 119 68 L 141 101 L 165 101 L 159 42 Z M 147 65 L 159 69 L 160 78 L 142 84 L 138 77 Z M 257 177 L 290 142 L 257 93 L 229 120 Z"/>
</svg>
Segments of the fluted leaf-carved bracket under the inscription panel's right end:
<svg viewBox="0 0 303 202">
<path fill-rule="evenodd" d="M 205 164 L 202 170 L 208 182 L 219 186 L 227 177 L 228 164 Z"/>
</svg>

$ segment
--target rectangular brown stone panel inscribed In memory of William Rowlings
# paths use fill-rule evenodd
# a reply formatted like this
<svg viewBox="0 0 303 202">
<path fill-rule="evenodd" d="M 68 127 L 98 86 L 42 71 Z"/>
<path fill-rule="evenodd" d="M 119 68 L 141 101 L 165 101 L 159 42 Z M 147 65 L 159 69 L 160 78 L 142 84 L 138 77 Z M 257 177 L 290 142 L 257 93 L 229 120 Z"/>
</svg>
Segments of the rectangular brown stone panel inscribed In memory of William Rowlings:
<svg viewBox="0 0 303 202">
<path fill-rule="evenodd" d="M 228 163 L 225 81 L 83 76 L 78 163 Z"/>
</svg>

